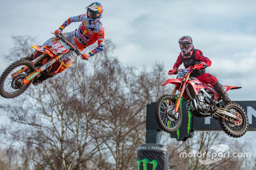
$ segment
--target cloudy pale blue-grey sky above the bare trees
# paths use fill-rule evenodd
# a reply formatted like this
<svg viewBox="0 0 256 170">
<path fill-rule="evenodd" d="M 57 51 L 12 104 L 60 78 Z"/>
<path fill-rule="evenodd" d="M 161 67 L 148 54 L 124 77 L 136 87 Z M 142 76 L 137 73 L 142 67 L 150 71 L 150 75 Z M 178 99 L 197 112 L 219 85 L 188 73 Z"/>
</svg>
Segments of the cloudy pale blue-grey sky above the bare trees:
<svg viewBox="0 0 256 170">
<path fill-rule="evenodd" d="M 37 37 L 37 41 L 43 44 L 66 19 L 84 13 L 85 7 L 92 2 L 2 2 L 1 61 L 4 60 L 2 55 L 14 45 L 12 35 Z M 212 61 L 207 72 L 215 75 L 223 85 L 242 86 L 242 89 L 229 92 L 232 100 L 256 100 L 255 0 L 99 2 L 104 9 L 105 39 L 117 44 L 115 56 L 122 63 L 151 69 L 157 61 L 163 63 L 167 74 L 180 53 L 177 41 L 181 36 L 189 35 L 195 48 Z M 79 24 L 72 23 L 64 32 L 75 30 Z M 7 65 L 1 62 L 0 66 L 2 73 Z"/>
</svg>

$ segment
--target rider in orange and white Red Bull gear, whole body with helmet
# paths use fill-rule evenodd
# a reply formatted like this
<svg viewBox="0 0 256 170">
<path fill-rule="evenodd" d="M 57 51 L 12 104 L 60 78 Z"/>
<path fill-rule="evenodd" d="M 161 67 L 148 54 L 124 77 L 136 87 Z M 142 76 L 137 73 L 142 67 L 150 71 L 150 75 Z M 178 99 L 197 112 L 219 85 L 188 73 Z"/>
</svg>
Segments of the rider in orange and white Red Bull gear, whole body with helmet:
<svg viewBox="0 0 256 170">
<path fill-rule="evenodd" d="M 82 59 L 87 60 L 89 57 L 100 53 L 104 49 L 104 24 L 100 20 L 102 17 L 103 7 L 100 3 L 94 2 L 87 7 L 87 12 L 79 16 L 73 16 L 68 18 L 55 32 L 58 35 L 62 30 L 72 22 L 82 22 L 78 29 L 72 32 L 63 33 L 65 39 L 71 42 L 78 50 L 83 51 L 84 48 L 92 45 L 98 41 L 98 47 L 91 52 L 82 55 Z M 47 40 L 43 45 L 52 46 L 53 42 L 56 41 L 56 37 L 52 37 Z M 58 72 L 54 72 L 48 76 L 41 76 L 34 80 L 33 85 L 38 85 L 44 80 L 51 78 L 57 73 L 63 72 L 67 69 L 76 59 L 77 54 L 75 51 L 70 50 L 69 53 L 62 57 L 61 67 Z"/>
</svg>

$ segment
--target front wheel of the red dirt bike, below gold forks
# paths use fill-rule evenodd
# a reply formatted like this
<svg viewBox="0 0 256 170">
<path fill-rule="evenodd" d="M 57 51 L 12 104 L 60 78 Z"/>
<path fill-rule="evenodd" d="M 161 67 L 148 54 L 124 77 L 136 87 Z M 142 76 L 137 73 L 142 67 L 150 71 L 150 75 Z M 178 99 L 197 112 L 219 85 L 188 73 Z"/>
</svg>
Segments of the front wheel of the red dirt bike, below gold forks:
<svg viewBox="0 0 256 170">
<path fill-rule="evenodd" d="M 182 122 L 182 111 L 179 107 L 178 118 L 168 115 L 169 110 L 175 107 L 176 99 L 169 94 L 161 96 L 156 102 L 155 116 L 158 126 L 167 133 L 174 133 L 180 128 Z"/>
</svg>

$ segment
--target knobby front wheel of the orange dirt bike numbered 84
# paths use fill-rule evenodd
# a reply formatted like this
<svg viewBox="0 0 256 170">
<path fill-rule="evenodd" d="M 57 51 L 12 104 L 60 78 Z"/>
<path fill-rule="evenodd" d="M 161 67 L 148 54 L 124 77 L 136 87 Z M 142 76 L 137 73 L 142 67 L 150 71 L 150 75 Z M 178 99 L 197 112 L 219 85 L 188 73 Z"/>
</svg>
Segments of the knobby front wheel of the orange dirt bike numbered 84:
<svg viewBox="0 0 256 170">
<path fill-rule="evenodd" d="M 24 69 L 24 72 L 18 71 L 25 67 L 27 67 L 27 69 Z M 22 59 L 12 63 L 4 70 L 0 77 L 0 95 L 4 98 L 10 99 L 25 92 L 33 80 L 24 85 L 22 83 L 22 79 L 27 77 L 34 70 L 34 63 L 27 59 Z"/>
</svg>

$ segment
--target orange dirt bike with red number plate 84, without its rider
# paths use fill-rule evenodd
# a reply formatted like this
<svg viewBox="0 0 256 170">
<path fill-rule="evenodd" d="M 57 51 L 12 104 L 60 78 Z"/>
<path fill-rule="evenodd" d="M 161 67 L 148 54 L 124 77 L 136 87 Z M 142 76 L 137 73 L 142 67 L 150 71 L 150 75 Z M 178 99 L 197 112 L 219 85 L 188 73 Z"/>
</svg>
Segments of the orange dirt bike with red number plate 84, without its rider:
<svg viewBox="0 0 256 170">
<path fill-rule="evenodd" d="M 70 50 L 77 55 L 82 53 L 68 42 L 62 34 L 55 35 L 58 39 L 52 46 L 32 46 L 35 54 L 21 58 L 4 70 L 0 77 L 0 95 L 14 98 L 25 92 L 29 85 L 40 76 L 51 76 L 61 67 L 62 57 Z M 52 76 L 53 77 L 53 76 Z"/>
</svg>

